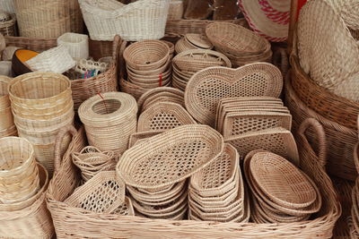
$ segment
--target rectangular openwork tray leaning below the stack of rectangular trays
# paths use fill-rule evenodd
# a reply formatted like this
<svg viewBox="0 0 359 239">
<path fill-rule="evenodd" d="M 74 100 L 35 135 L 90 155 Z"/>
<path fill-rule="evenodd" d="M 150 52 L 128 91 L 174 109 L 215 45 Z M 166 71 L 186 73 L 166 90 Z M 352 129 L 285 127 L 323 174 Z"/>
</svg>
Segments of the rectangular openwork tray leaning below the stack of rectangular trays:
<svg viewBox="0 0 359 239">
<path fill-rule="evenodd" d="M 242 157 L 245 157 L 251 150 L 264 149 L 291 160 L 294 165 L 299 164 L 298 149 L 293 135 L 283 128 L 232 136 L 225 142 L 231 143 Z"/>
</svg>

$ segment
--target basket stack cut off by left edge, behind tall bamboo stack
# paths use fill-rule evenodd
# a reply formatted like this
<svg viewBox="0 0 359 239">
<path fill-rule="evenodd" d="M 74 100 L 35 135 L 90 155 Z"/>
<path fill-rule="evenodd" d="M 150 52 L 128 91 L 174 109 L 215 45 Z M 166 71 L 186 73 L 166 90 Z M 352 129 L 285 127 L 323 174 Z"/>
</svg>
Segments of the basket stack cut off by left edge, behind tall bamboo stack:
<svg viewBox="0 0 359 239">
<path fill-rule="evenodd" d="M 12 79 L 0 76 L 0 138 L 6 136 L 17 136 L 15 124 L 13 124 L 13 113 L 10 107 L 10 99 L 7 86 Z"/>
</svg>

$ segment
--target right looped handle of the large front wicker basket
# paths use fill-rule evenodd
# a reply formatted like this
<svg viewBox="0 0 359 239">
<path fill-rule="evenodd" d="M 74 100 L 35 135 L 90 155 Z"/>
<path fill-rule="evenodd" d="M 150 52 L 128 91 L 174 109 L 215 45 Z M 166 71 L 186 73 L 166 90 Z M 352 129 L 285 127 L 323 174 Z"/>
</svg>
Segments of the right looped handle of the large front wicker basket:
<svg viewBox="0 0 359 239">
<path fill-rule="evenodd" d="M 312 149 L 311 143 L 308 141 L 307 136 L 305 136 L 304 133 L 310 127 L 312 127 L 314 129 L 314 132 L 317 134 L 319 143 L 318 158 L 320 161 L 320 165 L 325 167 L 327 164 L 327 141 L 323 126 L 316 119 L 307 118 L 299 126 L 298 135 L 301 138 L 302 143 L 304 145 L 307 145 L 309 148 L 311 148 L 313 152 L 315 152 L 314 149 Z"/>
</svg>

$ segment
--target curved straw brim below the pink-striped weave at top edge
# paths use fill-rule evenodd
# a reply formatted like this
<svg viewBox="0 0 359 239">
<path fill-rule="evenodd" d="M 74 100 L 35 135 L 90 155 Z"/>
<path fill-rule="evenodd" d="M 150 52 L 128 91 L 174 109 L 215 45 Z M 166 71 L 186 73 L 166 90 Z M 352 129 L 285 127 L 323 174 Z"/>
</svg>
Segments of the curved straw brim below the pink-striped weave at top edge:
<svg viewBox="0 0 359 239">
<path fill-rule="evenodd" d="M 289 2 L 289 1 L 287 1 Z M 279 24 L 267 18 L 262 10 L 259 0 L 239 0 L 238 2 L 241 12 L 248 21 L 250 28 L 256 31 L 260 36 L 270 41 L 285 41 L 288 37 L 289 22 Z M 287 11 L 290 10 L 290 4 Z"/>
</svg>

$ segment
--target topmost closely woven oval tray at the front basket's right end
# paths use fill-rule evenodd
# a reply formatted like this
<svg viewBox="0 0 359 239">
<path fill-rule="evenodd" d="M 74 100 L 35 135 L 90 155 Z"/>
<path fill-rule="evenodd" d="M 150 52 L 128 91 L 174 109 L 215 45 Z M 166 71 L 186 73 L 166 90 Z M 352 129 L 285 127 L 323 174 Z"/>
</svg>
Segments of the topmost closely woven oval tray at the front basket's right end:
<svg viewBox="0 0 359 239">
<path fill-rule="evenodd" d="M 250 172 L 259 188 L 283 207 L 305 208 L 317 200 L 315 185 L 289 161 L 276 154 L 255 154 L 250 160 Z"/>
</svg>

